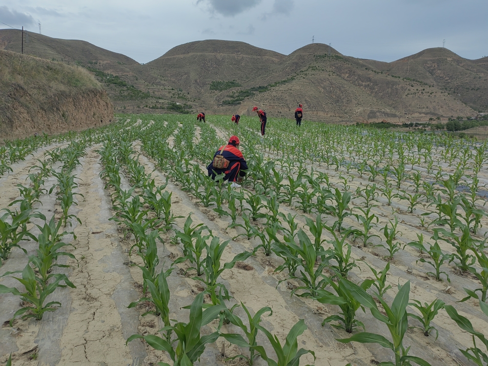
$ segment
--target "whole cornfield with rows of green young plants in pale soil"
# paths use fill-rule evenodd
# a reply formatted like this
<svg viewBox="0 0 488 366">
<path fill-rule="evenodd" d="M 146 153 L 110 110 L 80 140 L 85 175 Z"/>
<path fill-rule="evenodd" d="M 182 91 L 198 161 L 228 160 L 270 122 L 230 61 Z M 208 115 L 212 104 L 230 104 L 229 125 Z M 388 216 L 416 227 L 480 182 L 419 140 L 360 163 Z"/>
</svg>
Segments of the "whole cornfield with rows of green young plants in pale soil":
<svg viewBox="0 0 488 366">
<path fill-rule="evenodd" d="M 275 365 L 272 334 L 288 335 L 292 358 L 304 349 L 302 366 L 470 365 L 487 353 L 486 143 L 119 118 L 0 150 L 0 362 L 247 365 L 227 358 L 254 345 L 254 365 Z M 206 172 L 234 134 L 249 168 L 239 188 Z M 22 295 L 14 277 L 38 290 Z M 52 293 L 28 308 L 36 291 Z M 427 328 L 414 317 L 424 303 L 436 308 Z M 365 330 L 377 343 L 357 342 Z"/>
</svg>

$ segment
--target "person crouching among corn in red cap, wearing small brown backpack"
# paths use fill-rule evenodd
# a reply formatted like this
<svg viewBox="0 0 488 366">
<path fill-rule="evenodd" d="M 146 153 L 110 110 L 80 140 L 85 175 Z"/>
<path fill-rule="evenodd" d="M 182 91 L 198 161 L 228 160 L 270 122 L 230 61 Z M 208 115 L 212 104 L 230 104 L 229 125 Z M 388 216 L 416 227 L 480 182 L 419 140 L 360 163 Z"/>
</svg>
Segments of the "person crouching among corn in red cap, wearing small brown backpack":
<svg viewBox="0 0 488 366">
<path fill-rule="evenodd" d="M 208 176 L 215 179 L 219 174 L 225 174 L 224 181 L 231 183 L 231 187 L 240 187 L 240 182 L 245 176 L 243 170 L 247 170 L 247 163 L 243 153 L 239 151 L 239 138 L 231 136 L 227 145 L 221 146 L 214 155 L 214 159 L 207 166 Z"/>
</svg>

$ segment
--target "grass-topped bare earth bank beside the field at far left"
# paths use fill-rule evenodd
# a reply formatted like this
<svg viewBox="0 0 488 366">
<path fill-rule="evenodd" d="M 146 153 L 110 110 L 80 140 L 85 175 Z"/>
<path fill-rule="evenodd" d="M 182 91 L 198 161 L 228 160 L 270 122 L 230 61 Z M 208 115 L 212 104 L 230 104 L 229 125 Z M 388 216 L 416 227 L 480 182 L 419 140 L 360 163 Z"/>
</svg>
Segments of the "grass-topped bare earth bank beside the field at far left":
<svg viewBox="0 0 488 366">
<path fill-rule="evenodd" d="M 0 139 L 109 123 L 113 105 L 79 66 L 0 50 Z"/>
</svg>

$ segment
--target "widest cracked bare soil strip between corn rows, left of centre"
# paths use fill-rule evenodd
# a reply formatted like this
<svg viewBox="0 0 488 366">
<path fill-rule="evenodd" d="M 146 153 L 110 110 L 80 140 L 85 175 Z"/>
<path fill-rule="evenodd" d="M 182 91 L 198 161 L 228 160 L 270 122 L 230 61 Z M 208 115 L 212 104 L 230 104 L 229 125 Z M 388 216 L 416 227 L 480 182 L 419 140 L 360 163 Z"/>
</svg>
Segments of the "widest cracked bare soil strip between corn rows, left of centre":
<svg viewBox="0 0 488 366">
<path fill-rule="evenodd" d="M 85 158 L 80 178 L 76 228 L 80 267 L 71 272 L 71 311 L 61 338 L 61 360 L 58 365 L 137 365 L 145 357 L 140 342 L 125 346 L 125 339 L 137 332 L 139 312 L 126 309 L 138 299 L 133 280 L 118 242 L 117 226 L 108 221 L 111 207 L 98 174 L 99 156 L 91 148 Z"/>
</svg>

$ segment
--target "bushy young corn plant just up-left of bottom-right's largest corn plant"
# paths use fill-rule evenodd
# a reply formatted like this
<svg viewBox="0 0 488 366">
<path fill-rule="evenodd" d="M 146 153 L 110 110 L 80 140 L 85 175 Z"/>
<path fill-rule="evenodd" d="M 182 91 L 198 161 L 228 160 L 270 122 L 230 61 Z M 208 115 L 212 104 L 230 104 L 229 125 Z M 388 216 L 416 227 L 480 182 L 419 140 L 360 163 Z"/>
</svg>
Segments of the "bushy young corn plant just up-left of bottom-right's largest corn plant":
<svg viewBox="0 0 488 366">
<path fill-rule="evenodd" d="M 318 291 L 315 300 L 321 304 L 339 305 L 341 313 L 340 315 L 331 315 L 325 318 L 322 322 L 322 326 L 324 326 L 325 323 L 339 322 L 343 325 L 331 325 L 335 328 L 344 329 L 347 333 L 352 333 L 355 327 L 360 327 L 365 330 L 364 324 L 356 319 L 356 311 L 361 307 L 364 312 L 365 308 L 354 298 L 354 294 L 349 290 L 349 287 L 357 285 L 342 277 L 339 277 L 337 283 L 327 277 L 325 277 L 325 281 L 334 289 L 336 295 L 330 291 L 322 289 Z M 345 285 L 346 282 L 349 286 Z M 363 281 L 360 286 L 364 290 L 367 290 L 371 286 L 371 283 L 371 281 Z"/>
</svg>

